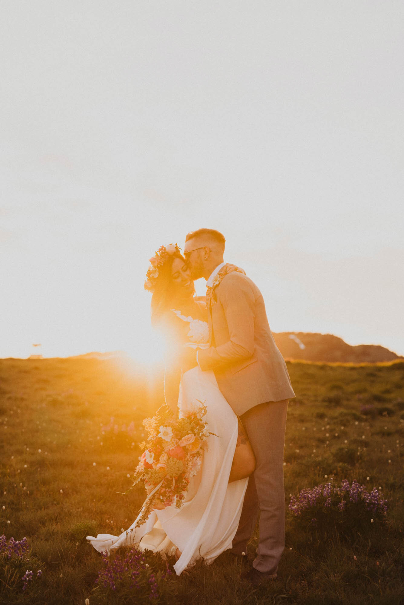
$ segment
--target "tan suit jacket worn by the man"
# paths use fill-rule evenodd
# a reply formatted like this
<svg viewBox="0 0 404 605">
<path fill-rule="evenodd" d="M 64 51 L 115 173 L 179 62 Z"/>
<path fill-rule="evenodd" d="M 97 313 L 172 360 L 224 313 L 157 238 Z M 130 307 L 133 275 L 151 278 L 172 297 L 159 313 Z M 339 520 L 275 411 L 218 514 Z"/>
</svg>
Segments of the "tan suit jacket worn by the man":
<svg viewBox="0 0 404 605">
<path fill-rule="evenodd" d="M 210 347 L 198 352 L 198 364 L 201 370 L 214 371 L 235 413 L 240 416 L 255 405 L 295 397 L 264 299 L 253 281 L 238 271 L 227 273 L 213 287 L 207 306 Z"/>
</svg>

